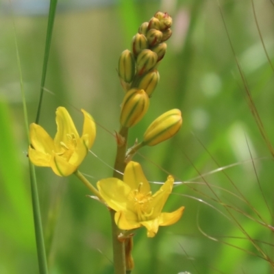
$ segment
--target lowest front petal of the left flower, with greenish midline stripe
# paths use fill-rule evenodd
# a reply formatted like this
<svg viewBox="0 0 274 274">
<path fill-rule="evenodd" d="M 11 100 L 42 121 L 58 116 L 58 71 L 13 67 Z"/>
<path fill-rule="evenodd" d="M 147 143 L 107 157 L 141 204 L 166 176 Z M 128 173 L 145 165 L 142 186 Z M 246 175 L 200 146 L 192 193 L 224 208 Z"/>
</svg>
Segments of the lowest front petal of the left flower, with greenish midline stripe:
<svg viewBox="0 0 274 274">
<path fill-rule="evenodd" d="M 78 166 L 70 164 L 66 159 L 53 154 L 50 162 L 51 169 L 58 176 L 69 176 L 77 170 Z"/>
</svg>

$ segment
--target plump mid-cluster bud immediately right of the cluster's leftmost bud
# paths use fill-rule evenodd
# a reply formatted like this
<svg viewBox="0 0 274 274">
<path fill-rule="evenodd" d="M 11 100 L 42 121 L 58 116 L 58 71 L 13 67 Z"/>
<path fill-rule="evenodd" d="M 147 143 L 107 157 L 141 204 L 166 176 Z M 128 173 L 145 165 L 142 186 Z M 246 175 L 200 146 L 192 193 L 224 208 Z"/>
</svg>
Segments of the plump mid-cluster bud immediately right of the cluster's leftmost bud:
<svg viewBox="0 0 274 274">
<path fill-rule="evenodd" d="M 143 49 L 137 56 L 136 69 L 138 75 L 142 75 L 147 71 L 153 69 L 153 66 L 157 63 L 158 55 L 157 53 L 151 51 L 150 49 Z"/>
</svg>

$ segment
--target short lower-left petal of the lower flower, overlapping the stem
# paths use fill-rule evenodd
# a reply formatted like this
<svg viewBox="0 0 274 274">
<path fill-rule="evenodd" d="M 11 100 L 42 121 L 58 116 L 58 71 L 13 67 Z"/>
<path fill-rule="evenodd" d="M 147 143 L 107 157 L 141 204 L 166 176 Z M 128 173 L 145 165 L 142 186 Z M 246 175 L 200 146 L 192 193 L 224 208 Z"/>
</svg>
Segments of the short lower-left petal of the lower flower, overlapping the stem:
<svg viewBox="0 0 274 274">
<path fill-rule="evenodd" d="M 114 216 L 115 223 L 120 229 L 129 230 L 140 227 L 140 223 L 137 221 L 136 214 L 134 212 L 118 211 Z"/>
</svg>

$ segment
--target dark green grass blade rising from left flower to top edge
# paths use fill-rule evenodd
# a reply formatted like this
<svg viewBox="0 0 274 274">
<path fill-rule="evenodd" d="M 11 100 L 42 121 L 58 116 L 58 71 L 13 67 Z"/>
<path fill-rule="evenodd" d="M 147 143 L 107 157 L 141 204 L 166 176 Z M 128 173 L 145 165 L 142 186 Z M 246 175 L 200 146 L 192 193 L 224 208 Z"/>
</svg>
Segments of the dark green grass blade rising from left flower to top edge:
<svg viewBox="0 0 274 274">
<path fill-rule="evenodd" d="M 49 5 L 49 20 L 47 23 L 47 37 L 46 37 L 46 44 L 45 44 L 44 61 L 43 61 L 43 66 L 42 66 L 42 78 L 41 78 L 41 84 L 40 84 L 40 98 L 39 98 L 38 110 L 37 110 L 36 121 L 35 121 L 36 124 L 39 123 L 39 119 L 40 119 L 42 99 L 43 99 L 43 95 L 44 95 L 45 80 L 46 80 L 46 75 L 47 75 L 47 63 L 49 60 L 49 49 L 51 47 L 51 36 L 52 36 L 52 32 L 53 32 L 53 25 L 54 25 L 57 2 L 58 2 L 58 0 L 51 0 L 51 3 Z"/>
</svg>

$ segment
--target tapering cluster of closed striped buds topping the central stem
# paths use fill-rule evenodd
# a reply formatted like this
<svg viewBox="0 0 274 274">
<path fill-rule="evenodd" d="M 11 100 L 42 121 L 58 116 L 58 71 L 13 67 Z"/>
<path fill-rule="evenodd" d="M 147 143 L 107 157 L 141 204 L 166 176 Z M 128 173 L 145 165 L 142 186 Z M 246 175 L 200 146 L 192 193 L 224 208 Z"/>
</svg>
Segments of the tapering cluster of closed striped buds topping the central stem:
<svg viewBox="0 0 274 274">
<path fill-rule="evenodd" d="M 118 72 L 126 91 L 120 123 L 132 127 L 149 108 L 149 98 L 160 75 L 156 69 L 166 53 L 164 41 L 171 37 L 172 18 L 166 12 L 156 12 L 149 22 L 142 23 L 132 39 L 132 51 L 126 49 L 119 58 Z"/>
</svg>

